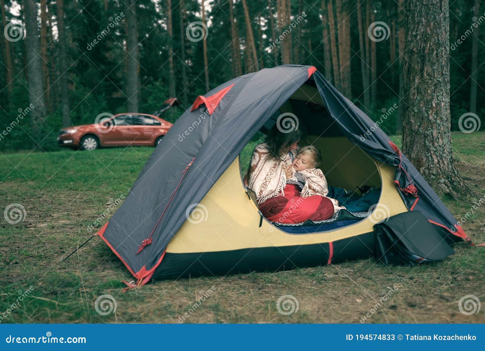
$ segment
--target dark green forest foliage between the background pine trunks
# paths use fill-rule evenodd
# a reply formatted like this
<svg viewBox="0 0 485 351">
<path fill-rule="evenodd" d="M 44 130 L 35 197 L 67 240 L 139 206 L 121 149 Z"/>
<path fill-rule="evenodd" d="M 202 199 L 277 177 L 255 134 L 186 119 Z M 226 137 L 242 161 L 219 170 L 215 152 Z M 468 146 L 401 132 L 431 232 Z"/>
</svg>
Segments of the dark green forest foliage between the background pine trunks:
<svg viewBox="0 0 485 351">
<path fill-rule="evenodd" d="M 396 59 L 397 32 L 400 27 L 398 23 L 398 6 L 393 1 L 374 1 L 375 18 L 386 22 L 391 30 L 390 35 L 396 36 Z M 59 43 L 57 37 L 51 34 L 49 25 L 56 24 L 56 1 L 48 0 L 48 13 L 51 16 L 48 20 L 47 36 L 47 62 L 49 74 L 49 91 L 46 91 L 47 120 L 42 127 L 42 133 L 32 135 L 30 116 L 22 119 L 19 126 L 8 133 L 0 140 L 0 150 L 31 149 L 39 143 L 43 150 L 56 149 L 55 136 L 61 125 L 60 87 L 59 76 L 61 73 L 68 77 L 69 104 L 72 125 L 92 123 L 96 116 L 103 112 L 122 113 L 127 111 L 127 57 L 126 49 L 126 14 L 125 4 L 117 0 L 108 0 L 107 9 L 104 8 L 104 1 L 75 0 L 65 1 L 65 23 L 67 35 L 67 72 L 60 72 L 58 68 Z M 188 96 L 188 108 L 197 95 L 203 95 L 207 91 L 204 79 L 204 59 L 202 41 L 190 41 L 186 37 L 185 29 L 187 24 L 200 21 L 200 1 L 185 0 L 185 17 L 180 31 L 180 5 L 178 1 L 172 1 L 172 8 L 167 8 L 165 0 L 138 0 L 137 6 L 137 27 L 138 27 L 138 62 L 139 67 L 139 112 L 152 113 L 164 100 L 169 98 L 168 77 L 169 77 L 169 53 L 168 44 L 173 45 L 173 60 L 175 73 L 175 86 L 177 98 L 182 98 L 182 91 Z M 362 4 L 362 7 L 365 4 Z M 13 11 L 14 1 L 6 0 L 6 20 L 23 22 L 23 12 L 17 14 Z M 301 7 L 300 7 L 301 6 Z M 82 11 L 81 11 L 82 9 Z M 281 45 L 276 46 L 278 55 L 275 57 L 275 50 L 270 50 L 270 44 L 274 43 L 273 31 L 270 27 L 271 16 L 275 15 L 275 3 L 268 5 L 265 0 L 248 1 L 249 17 L 255 39 L 255 46 L 258 51 L 259 66 L 274 67 L 281 62 Z M 206 19 L 209 23 L 207 47 L 209 59 L 209 81 L 210 88 L 233 78 L 232 76 L 232 52 L 231 32 L 229 23 L 228 1 L 212 0 L 207 2 Z M 450 4 L 450 42 L 455 43 L 471 25 L 473 17 L 472 2 L 457 0 Z M 166 30 L 168 12 L 172 13 L 172 37 L 168 36 Z M 303 22 L 298 24 L 292 31 L 291 47 L 292 55 L 297 53 L 295 64 L 313 65 L 321 72 L 326 72 L 330 67 L 324 67 L 323 44 L 322 44 L 322 14 L 321 6 L 310 4 L 305 1 L 291 0 L 291 15 L 297 17 L 298 13 L 305 12 Z M 123 16 L 122 16 L 123 13 Z M 120 16 L 121 20 L 113 21 L 110 18 Z M 234 17 L 237 20 L 237 31 L 240 38 L 240 58 L 243 72 L 250 67 L 245 67 L 245 36 L 244 11 L 242 1 L 234 1 Z M 273 17 L 275 23 L 277 18 Z M 357 23 L 357 12 L 351 11 L 349 20 Z M 262 23 L 260 26 L 259 23 Z M 112 26 L 110 27 L 110 24 Z M 483 24 L 481 24 L 483 26 Z M 103 31 L 102 38 L 94 44 Z M 376 43 L 377 57 L 377 81 L 374 83 L 377 91 L 377 100 L 373 106 L 363 106 L 363 88 L 361 76 L 361 57 L 359 48 L 359 33 L 356 25 L 351 25 L 351 77 L 352 94 L 348 96 L 356 103 L 362 111 L 368 114 L 374 121 L 380 121 L 382 109 L 389 109 L 394 103 L 401 102 L 397 97 L 399 91 L 399 65 L 397 60 L 391 61 L 390 38 Z M 366 31 L 364 31 L 366 32 Z M 278 31 L 275 29 L 276 36 Z M 338 31 L 336 32 L 338 35 Z M 367 33 L 363 33 L 364 36 Z M 53 36 L 51 36 L 53 35 Z M 184 38 L 185 61 L 181 60 L 181 37 Z M 480 42 L 484 42 L 485 31 L 479 32 Z M 470 61 L 471 61 L 471 36 L 454 50 L 450 50 L 450 85 L 451 85 L 451 119 L 452 130 L 458 130 L 458 119 L 461 115 L 469 112 L 470 94 Z M 484 65 L 481 59 L 485 54 L 485 46 L 478 45 L 479 86 L 484 86 Z M 18 109 L 25 109 L 29 101 L 27 83 L 25 42 L 20 40 L 10 43 L 11 57 L 14 65 L 14 80 L 12 96 L 8 96 L 6 86 L 6 65 L 3 41 L 1 45 L 0 60 L 0 132 L 5 130 L 10 123 L 16 119 Z M 187 84 L 182 82 L 182 67 L 187 72 Z M 47 87 L 47 82 L 46 82 Z M 10 99 L 10 100 L 9 100 Z M 485 90 L 478 88 L 477 93 L 477 115 L 482 117 L 482 125 L 485 125 Z M 184 110 L 175 108 L 168 111 L 165 119 L 174 122 Z M 388 134 L 396 131 L 397 112 L 386 117 L 381 128 Z M 50 134 L 49 134 L 50 133 Z M 37 148 L 36 150 L 41 150 Z"/>
</svg>

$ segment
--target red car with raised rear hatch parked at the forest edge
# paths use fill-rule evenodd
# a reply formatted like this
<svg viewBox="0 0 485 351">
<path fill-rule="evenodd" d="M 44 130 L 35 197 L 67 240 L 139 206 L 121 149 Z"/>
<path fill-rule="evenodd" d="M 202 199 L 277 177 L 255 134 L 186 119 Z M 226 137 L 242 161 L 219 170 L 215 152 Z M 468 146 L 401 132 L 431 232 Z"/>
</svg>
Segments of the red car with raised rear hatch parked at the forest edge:
<svg viewBox="0 0 485 351">
<path fill-rule="evenodd" d="M 172 127 L 172 123 L 160 116 L 179 104 L 180 101 L 175 98 L 165 100 L 153 115 L 123 113 L 113 116 L 102 113 L 96 117 L 94 124 L 62 129 L 57 137 L 58 145 L 85 150 L 109 146 L 157 146 Z"/>
</svg>

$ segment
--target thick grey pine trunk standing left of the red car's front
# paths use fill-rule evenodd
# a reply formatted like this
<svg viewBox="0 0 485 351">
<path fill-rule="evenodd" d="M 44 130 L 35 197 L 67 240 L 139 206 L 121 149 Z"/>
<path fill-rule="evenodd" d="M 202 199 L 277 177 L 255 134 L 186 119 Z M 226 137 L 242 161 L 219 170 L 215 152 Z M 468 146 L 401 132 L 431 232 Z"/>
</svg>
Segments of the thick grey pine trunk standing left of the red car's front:
<svg viewBox="0 0 485 351">
<path fill-rule="evenodd" d="M 34 106 L 31 111 L 32 135 L 41 139 L 46 119 L 44 90 L 42 89 L 42 64 L 37 55 L 40 52 L 39 22 L 37 20 L 38 6 L 33 0 L 25 0 L 25 45 L 27 49 L 27 77 L 29 82 L 29 100 Z M 39 139 L 39 140 L 40 140 Z M 32 146 L 35 147 L 35 144 Z"/>
</svg>

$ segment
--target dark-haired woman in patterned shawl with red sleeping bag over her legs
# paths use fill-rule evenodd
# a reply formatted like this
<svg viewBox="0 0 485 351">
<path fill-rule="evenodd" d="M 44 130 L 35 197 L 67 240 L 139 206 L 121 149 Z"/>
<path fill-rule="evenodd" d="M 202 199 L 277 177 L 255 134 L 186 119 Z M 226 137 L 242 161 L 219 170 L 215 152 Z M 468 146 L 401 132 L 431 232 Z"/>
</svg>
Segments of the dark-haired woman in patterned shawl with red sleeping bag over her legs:
<svg viewBox="0 0 485 351">
<path fill-rule="evenodd" d="M 244 185 L 256 193 L 261 213 L 271 222 L 301 223 L 332 217 L 335 209 L 330 198 L 301 197 L 301 189 L 294 184 L 297 179 L 292 162 L 297 144 L 306 136 L 304 128 L 294 124 L 290 130 L 278 127 L 276 123 L 265 142 L 254 148 Z"/>
</svg>

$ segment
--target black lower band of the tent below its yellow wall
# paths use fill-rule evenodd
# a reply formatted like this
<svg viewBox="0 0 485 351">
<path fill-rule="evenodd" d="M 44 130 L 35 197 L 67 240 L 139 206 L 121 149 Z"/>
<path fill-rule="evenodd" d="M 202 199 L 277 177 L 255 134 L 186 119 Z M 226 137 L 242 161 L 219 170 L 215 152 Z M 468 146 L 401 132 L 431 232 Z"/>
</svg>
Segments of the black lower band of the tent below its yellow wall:
<svg viewBox="0 0 485 351">
<path fill-rule="evenodd" d="M 333 243 L 217 252 L 166 252 L 152 279 L 226 276 L 252 271 L 316 267 L 369 258 L 374 256 L 374 248 L 374 234 L 371 232 Z"/>
</svg>

